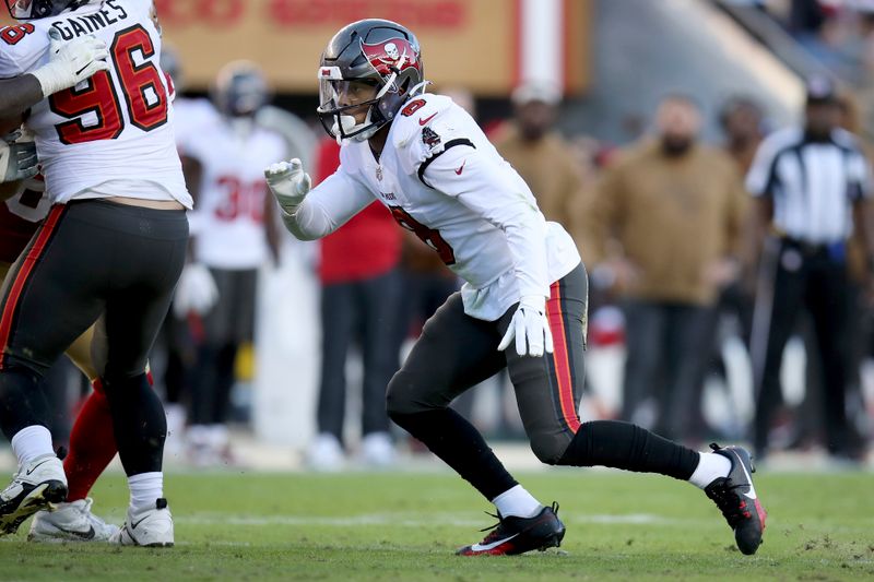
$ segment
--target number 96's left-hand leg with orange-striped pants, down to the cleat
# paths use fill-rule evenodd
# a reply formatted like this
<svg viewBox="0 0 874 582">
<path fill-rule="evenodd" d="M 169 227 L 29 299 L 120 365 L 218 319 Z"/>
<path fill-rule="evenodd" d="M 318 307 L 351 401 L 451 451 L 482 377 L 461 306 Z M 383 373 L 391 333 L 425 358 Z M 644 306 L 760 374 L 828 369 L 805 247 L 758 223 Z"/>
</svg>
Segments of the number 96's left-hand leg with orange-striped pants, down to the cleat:
<svg viewBox="0 0 874 582">
<path fill-rule="evenodd" d="M 99 280 L 82 269 L 91 257 L 79 231 L 69 207 L 55 206 L 3 284 L 0 426 L 19 472 L 0 494 L 0 534 L 15 532 L 27 516 L 67 496 L 39 380 L 103 310 Z"/>
</svg>

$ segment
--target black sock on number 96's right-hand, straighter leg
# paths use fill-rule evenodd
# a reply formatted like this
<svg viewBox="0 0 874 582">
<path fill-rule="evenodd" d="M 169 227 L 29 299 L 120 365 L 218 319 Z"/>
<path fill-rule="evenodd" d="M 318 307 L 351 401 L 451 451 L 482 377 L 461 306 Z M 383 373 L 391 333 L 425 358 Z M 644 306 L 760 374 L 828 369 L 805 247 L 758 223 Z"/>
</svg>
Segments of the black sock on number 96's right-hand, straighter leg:
<svg viewBox="0 0 874 582">
<path fill-rule="evenodd" d="M 145 375 L 116 380 L 104 378 L 104 391 L 113 412 L 113 428 L 125 473 L 130 476 L 160 472 L 167 417 Z"/>
</svg>

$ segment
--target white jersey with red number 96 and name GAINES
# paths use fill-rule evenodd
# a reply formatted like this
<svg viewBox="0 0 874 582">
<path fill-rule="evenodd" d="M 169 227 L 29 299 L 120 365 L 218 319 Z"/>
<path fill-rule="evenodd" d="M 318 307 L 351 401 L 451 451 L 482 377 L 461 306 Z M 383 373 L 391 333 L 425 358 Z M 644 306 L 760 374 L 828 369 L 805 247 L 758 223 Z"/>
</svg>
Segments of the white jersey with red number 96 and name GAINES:
<svg viewBox="0 0 874 582">
<path fill-rule="evenodd" d="M 0 35 L 0 78 L 45 64 L 50 28 L 67 40 L 96 36 L 109 47 L 111 61 L 109 71 L 43 99 L 25 121 L 50 200 L 121 195 L 177 200 L 191 207 L 158 62 L 161 34 L 152 0 L 106 0 L 8 27 Z"/>
</svg>

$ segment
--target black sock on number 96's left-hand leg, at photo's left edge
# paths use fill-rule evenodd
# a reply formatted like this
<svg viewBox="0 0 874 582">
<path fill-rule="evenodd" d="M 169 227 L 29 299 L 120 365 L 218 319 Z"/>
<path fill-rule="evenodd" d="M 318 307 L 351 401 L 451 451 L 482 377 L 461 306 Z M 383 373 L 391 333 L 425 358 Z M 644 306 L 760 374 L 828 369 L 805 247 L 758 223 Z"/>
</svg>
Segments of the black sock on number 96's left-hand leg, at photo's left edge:
<svg viewBox="0 0 874 582">
<path fill-rule="evenodd" d="M 11 441 L 22 428 L 51 425 L 48 399 L 40 377 L 23 366 L 0 373 L 0 428 Z"/>
</svg>

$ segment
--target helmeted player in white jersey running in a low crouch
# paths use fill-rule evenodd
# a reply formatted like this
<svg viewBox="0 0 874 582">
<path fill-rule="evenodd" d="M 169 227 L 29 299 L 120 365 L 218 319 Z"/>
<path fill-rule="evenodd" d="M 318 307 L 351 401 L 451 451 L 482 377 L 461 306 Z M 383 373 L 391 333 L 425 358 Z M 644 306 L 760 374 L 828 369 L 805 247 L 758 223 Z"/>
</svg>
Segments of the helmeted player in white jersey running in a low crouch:
<svg viewBox="0 0 874 582">
<path fill-rule="evenodd" d="M 689 480 L 717 502 L 740 549 L 755 553 L 765 512 L 744 449 L 698 453 L 635 425 L 580 423 L 587 276 L 577 249 L 473 119 L 425 93 L 415 36 L 389 21 L 352 23 L 328 44 L 318 78 L 317 111 L 342 142 L 341 167 L 311 191 L 299 161 L 265 170 L 287 229 L 322 237 L 376 198 L 466 281 L 425 324 L 387 393 L 391 418 L 497 508 L 495 528 L 459 554 L 520 554 L 565 534 L 557 506 L 534 499 L 449 407 L 504 367 L 541 461 Z"/>
</svg>

